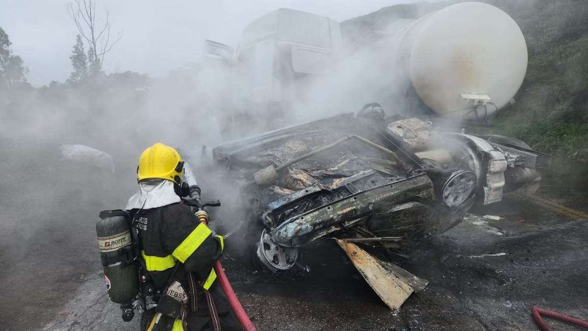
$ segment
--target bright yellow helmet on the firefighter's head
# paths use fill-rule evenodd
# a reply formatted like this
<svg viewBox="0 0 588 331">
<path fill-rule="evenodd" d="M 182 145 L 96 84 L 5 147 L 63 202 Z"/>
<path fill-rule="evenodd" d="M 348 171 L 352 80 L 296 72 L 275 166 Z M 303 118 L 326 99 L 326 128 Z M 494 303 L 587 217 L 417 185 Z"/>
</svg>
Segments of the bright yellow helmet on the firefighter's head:
<svg viewBox="0 0 588 331">
<path fill-rule="evenodd" d="M 147 148 L 139 157 L 137 181 L 162 178 L 182 184 L 183 160 L 178 151 L 162 143 Z"/>
</svg>

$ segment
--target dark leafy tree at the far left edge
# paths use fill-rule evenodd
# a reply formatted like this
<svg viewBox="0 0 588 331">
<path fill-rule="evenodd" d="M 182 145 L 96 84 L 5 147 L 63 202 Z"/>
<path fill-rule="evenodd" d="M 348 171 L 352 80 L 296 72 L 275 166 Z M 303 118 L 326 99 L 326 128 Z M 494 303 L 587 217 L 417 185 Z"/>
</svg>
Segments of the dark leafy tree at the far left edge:
<svg viewBox="0 0 588 331">
<path fill-rule="evenodd" d="M 8 34 L 0 28 L 0 86 L 3 87 L 14 87 L 16 84 L 26 82 L 26 73 L 29 72 L 22 58 L 12 55 L 10 45 L 12 42 Z"/>
</svg>

